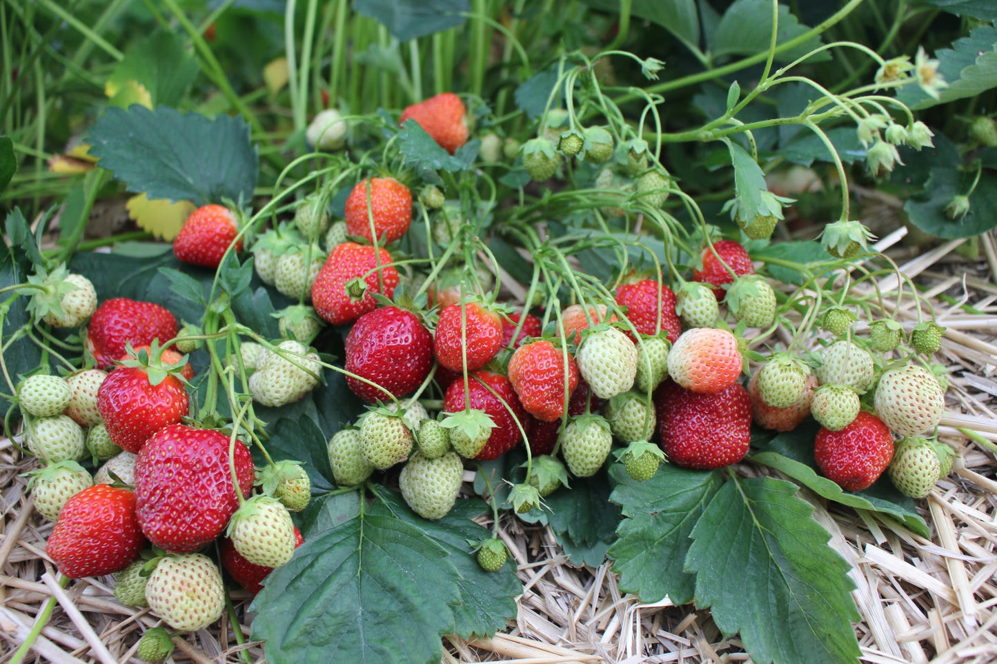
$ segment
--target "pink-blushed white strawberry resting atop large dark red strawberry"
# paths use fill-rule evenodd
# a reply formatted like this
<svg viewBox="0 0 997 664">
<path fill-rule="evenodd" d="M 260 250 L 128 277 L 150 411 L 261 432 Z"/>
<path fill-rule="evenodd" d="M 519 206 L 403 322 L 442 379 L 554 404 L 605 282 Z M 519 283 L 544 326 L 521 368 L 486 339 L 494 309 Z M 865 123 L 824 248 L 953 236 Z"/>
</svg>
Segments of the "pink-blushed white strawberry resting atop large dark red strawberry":
<svg viewBox="0 0 997 664">
<path fill-rule="evenodd" d="M 744 365 L 738 340 L 728 330 L 694 327 L 668 352 L 668 375 L 693 392 L 722 392 L 737 382 Z"/>
</svg>

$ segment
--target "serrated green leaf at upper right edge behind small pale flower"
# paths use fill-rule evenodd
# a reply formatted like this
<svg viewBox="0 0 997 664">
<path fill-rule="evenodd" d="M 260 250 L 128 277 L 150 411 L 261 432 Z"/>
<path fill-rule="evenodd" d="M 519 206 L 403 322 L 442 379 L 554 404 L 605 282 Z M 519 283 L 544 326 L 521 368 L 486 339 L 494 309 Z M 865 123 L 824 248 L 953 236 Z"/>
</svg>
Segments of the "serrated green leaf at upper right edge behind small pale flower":
<svg viewBox="0 0 997 664">
<path fill-rule="evenodd" d="M 896 93 L 896 98 L 911 109 L 929 109 L 953 100 L 976 97 L 997 87 L 997 27 L 987 25 L 957 39 L 950 49 L 935 51 L 938 73 L 948 83 L 935 100 L 916 82 L 907 84 Z"/>
</svg>

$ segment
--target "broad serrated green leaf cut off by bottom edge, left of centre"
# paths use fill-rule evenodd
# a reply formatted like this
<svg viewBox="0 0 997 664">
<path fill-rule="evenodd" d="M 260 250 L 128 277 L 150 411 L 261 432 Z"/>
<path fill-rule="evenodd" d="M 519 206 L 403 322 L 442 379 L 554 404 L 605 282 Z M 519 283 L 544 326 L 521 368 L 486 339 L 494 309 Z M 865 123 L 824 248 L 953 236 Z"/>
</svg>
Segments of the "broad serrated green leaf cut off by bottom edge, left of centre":
<svg viewBox="0 0 997 664">
<path fill-rule="evenodd" d="M 362 513 L 305 541 L 253 600 L 252 638 L 273 662 L 438 664 L 460 572 L 446 548 L 394 516 Z M 403 638 L 404 635 L 404 638 Z"/>
</svg>

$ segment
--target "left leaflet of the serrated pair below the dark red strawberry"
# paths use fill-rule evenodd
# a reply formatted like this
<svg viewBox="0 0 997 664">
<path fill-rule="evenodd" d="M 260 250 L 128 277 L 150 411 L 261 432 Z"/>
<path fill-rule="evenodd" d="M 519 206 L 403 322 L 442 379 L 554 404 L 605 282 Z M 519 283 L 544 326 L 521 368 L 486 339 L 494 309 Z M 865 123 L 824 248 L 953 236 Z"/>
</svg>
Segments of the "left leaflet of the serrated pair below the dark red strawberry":
<svg viewBox="0 0 997 664">
<path fill-rule="evenodd" d="M 626 516 L 609 547 L 620 589 L 652 603 L 665 595 L 676 604 L 693 597 L 695 576 L 684 569 L 689 538 L 706 505 L 723 484 L 715 471 L 688 471 L 663 464 L 647 482 L 634 482 L 614 467 L 618 485 L 609 497 Z"/>
</svg>

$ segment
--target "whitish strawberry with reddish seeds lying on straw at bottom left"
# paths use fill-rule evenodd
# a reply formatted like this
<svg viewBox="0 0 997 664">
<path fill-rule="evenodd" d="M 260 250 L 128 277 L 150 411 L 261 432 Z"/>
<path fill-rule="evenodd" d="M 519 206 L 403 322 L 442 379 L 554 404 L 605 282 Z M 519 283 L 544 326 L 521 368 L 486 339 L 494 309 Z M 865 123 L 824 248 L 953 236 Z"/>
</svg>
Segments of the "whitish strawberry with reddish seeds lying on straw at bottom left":
<svg viewBox="0 0 997 664">
<path fill-rule="evenodd" d="M 225 608 L 221 572 L 203 553 L 166 555 L 149 575 L 146 601 L 173 629 L 203 629 L 220 618 Z"/>
</svg>

